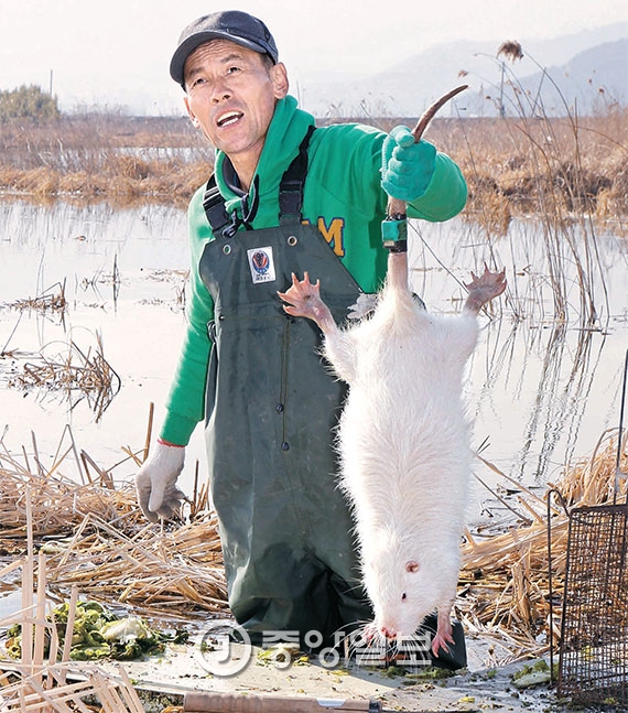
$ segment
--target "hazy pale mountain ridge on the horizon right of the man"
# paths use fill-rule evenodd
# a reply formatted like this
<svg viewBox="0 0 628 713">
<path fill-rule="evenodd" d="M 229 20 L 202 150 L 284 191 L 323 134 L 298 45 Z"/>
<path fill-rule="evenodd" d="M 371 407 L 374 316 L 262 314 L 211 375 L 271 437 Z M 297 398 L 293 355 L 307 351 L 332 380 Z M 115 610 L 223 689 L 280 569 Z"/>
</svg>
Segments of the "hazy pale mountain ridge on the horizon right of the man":
<svg viewBox="0 0 628 713">
<path fill-rule="evenodd" d="M 301 83 L 300 101 L 318 117 L 418 117 L 448 89 L 468 84 L 467 91 L 443 111 L 495 116 L 504 106 L 507 114 L 517 112 L 521 97 L 512 97 L 513 86 L 526 93 L 530 109 L 539 107 L 537 98 L 548 115 L 564 114 L 563 99 L 569 107 L 577 102 L 580 114 L 600 101 L 628 105 L 627 22 L 521 41 L 523 58 L 515 62 L 497 56 L 504 40 L 440 44 L 368 78 L 315 77 Z"/>
</svg>

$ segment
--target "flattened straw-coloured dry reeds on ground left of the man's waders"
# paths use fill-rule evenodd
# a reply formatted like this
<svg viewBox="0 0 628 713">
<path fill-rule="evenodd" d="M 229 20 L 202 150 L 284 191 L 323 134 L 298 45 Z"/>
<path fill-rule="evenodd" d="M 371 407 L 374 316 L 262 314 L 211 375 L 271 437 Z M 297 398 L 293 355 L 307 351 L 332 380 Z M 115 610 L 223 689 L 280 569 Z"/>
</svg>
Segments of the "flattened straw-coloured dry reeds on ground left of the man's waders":
<svg viewBox="0 0 628 713">
<path fill-rule="evenodd" d="M 91 462 L 80 455 L 84 465 Z M 220 542 L 206 488 L 195 493 L 191 522 L 160 527 L 147 525 L 134 488 L 113 487 L 110 471 L 78 485 L 57 467 L 32 474 L 10 456 L 2 461 L 9 464 L 0 467 L 2 549 L 14 551 L 11 542 L 24 541 L 30 507 L 30 527 L 48 558 L 50 590 L 57 598 L 77 585 L 91 598 L 162 619 L 226 607 Z"/>
</svg>

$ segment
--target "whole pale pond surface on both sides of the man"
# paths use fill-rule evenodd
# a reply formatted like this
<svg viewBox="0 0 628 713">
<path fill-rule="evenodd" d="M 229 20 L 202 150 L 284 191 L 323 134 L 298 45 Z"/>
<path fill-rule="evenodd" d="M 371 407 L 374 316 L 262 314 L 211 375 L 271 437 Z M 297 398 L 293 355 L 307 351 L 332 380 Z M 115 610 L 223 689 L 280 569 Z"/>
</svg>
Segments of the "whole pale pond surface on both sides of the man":
<svg viewBox="0 0 628 713">
<path fill-rule="evenodd" d="M 577 229 L 574 236 L 584 239 Z M 507 268 L 509 294 L 490 318 L 483 315 L 469 370 L 474 445 L 483 444 L 483 456 L 508 475 L 538 486 L 554 479 L 565 462 L 588 455 L 602 433 L 617 425 L 628 346 L 627 241 L 613 230 L 596 229 L 597 255 L 587 271 L 600 328 L 589 330 L 578 317 L 582 291 L 569 273 L 573 259 L 563 263 L 566 321 L 553 318 L 546 239 L 533 220 L 513 222 L 508 236 L 492 242 L 462 219 L 411 229 L 413 284 L 430 310 L 458 312 L 461 283 L 484 260 Z M 23 461 L 32 460 L 36 447 L 50 467 L 55 453 L 68 445 L 69 425 L 78 447 L 111 467 L 124 458 L 122 446 L 143 445 L 151 402 L 155 424 L 161 419 L 185 328 L 184 213 L 155 206 L 112 210 L 106 205 L 1 203 L 0 250 L 0 348 L 11 355 L 0 359 L 4 449 Z M 63 315 L 11 306 L 58 290 L 58 284 L 65 284 L 68 300 Z M 68 399 L 64 392 L 8 387 L 28 360 L 24 353 L 43 350 L 53 358 L 67 352 L 71 341 L 86 352 L 96 348 L 97 335 L 121 382 L 99 418 L 80 393 Z M 196 458 L 204 463 L 201 428 L 190 449 L 184 487 L 191 487 Z M 72 457 L 63 471 L 77 473 Z M 133 472 L 126 463 L 113 475 L 124 480 Z M 496 483 L 479 463 L 477 474 Z M 476 488 L 479 508 L 487 496 Z"/>
</svg>

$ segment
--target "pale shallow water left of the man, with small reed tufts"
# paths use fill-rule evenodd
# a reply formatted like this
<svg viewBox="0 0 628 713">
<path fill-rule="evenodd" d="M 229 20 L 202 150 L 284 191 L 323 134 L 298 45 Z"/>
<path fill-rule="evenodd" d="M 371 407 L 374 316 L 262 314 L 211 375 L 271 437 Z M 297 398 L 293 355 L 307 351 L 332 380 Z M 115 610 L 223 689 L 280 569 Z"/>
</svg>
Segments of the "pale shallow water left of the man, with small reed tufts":
<svg viewBox="0 0 628 713">
<path fill-rule="evenodd" d="M 78 447 L 100 466 L 111 467 L 124 457 L 121 446 L 143 446 L 151 402 L 156 426 L 175 368 L 185 328 L 185 215 L 153 206 L 112 210 L 106 205 L 8 203 L 0 204 L 0 347 L 26 353 L 44 348 L 54 358 L 67 353 L 71 339 L 84 352 L 95 349 L 98 333 L 105 358 L 121 380 L 120 391 L 96 419 L 80 393 L 68 400 L 62 392 L 6 388 L 11 367 L 20 368 L 25 359 L 2 359 L 0 428 L 9 426 L 4 446 L 14 453 L 24 445 L 32 454 L 33 432 L 41 460 L 50 467 L 69 424 Z M 50 311 L 8 306 L 48 289 L 58 291 L 64 282 L 68 310 L 63 320 Z M 73 469 L 72 463 L 64 466 L 71 477 Z M 131 471 L 120 467 L 113 475 L 124 478 Z"/>
</svg>

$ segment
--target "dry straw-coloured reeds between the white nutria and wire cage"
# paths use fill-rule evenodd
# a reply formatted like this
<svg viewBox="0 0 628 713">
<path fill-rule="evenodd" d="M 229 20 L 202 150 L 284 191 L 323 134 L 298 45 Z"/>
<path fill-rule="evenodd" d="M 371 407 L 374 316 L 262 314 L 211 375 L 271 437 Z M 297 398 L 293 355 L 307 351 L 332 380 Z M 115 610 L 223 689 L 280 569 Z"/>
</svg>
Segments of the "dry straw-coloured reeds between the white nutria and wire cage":
<svg viewBox="0 0 628 713">
<path fill-rule="evenodd" d="M 594 454 L 566 468 L 555 485 L 549 484 L 543 498 L 522 490 L 518 496 L 520 525 L 488 537 L 467 533 L 455 608 L 468 631 L 491 639 L 496 649 L 501 649 L 501 653 L 495 651 L 499 662 L 541 656 L 548 652 L 552 641 L 556 647 L 569 512 L 554 501 L 552 490 L 555 488 L 562 495 L 569 510 L 613 504 L 617 437 L 616 431 L 604 434 Z M 628 472 L 626 455 L 622 455 L 621 471 Z M 624 480 L 618 487 L 617 501 L 625 503 L 626 497 Z M 553 601 L 550 599 L 548 518 L 551 521 Z M 550 620 L 553 620 L 552 631 Z"/>
</svg>

